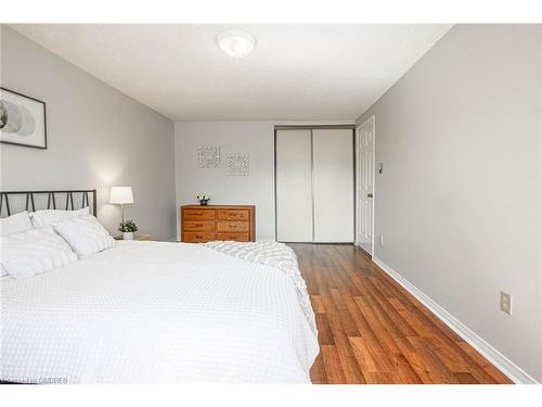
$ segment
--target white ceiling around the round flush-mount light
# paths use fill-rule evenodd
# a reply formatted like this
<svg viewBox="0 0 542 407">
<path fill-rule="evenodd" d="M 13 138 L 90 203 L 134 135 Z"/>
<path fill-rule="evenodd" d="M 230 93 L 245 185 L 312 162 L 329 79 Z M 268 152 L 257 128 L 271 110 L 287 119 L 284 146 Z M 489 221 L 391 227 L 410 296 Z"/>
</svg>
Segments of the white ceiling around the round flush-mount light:
<svg viewBox="0 0 542 407">
<path fill-rule="evenodd" d="M 173 120 L 354 119 L 450 25 L 10 25 Z M 224 29 L 256 37 L 234 60 Z"/>
</svg>

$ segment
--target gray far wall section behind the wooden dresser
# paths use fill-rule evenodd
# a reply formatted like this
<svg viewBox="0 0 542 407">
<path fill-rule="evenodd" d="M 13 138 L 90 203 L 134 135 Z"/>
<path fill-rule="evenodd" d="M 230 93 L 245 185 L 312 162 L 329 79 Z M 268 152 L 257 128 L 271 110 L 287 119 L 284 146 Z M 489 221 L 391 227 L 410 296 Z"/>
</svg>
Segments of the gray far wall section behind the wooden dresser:
<svg viewBox="0 0 542 407">
<path fill-rule="evenodd" d="M 222 165 L 199 168 L 197 149 L 219 145 Z M 256 205 L 256 238 L 274 240 L 274 126 L 271 122 L 177 122 L 177 203 L 207 194 L 216 205 Z M 247 177 L 225 175 L 229 153 L 250 155 Z"/>
</svg>

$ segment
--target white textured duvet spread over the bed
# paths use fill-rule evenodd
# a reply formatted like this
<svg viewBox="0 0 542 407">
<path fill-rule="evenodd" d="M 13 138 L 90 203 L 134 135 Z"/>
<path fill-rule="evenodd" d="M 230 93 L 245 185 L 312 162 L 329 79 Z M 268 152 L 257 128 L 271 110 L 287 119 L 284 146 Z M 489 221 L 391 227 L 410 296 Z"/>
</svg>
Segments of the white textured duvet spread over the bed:
<svg viewBox="0 0 542 407">
<path fill-rule="evenodd" d="M 120 242 L 0 284 L 4 381 L 309 382 L 319 352 L 286 275 L 202 245 Z"/>
</svg>

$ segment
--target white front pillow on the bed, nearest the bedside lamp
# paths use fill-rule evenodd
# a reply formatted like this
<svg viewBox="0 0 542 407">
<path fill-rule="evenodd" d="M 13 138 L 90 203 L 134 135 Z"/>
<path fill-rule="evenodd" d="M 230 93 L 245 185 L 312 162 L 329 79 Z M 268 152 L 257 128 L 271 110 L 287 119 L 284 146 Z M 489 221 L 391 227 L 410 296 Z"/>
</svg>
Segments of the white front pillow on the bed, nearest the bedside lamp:
<svg viewBox="0 0 542 407">
<path fill-rule="evenodd" d="M 53 225 L 79 258 L 113 247 L 115 241 L 92 215 L 79 216 Z"/>
</svg>

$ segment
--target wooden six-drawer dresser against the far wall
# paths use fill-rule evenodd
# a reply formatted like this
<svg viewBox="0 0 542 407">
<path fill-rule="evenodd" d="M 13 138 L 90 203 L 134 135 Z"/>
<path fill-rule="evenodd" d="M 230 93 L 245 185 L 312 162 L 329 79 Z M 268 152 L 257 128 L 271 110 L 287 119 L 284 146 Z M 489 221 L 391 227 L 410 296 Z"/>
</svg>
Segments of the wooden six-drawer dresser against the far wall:
<svg viewBox="0 0 542 407">
<path fill-rule="evenodd" d="M 254 205 L 181 206 L 181 242 L 255 241 Z"/>
</svg>

